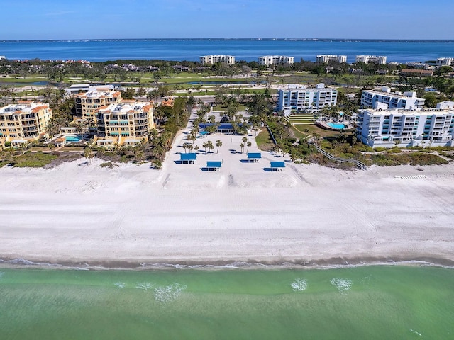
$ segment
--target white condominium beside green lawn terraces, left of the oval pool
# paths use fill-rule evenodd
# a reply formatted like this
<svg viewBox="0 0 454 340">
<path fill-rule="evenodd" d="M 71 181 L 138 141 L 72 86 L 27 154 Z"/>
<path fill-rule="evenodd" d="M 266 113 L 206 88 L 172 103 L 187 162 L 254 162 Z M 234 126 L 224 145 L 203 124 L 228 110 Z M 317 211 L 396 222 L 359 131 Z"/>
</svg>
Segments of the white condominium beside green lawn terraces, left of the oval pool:
<svg viewBox="0 0 454 340">
<path fill-rule="evenodd" d="M 277 108 L 279 111 L 316 113 L 326 106 L 334 106 L 337 103 L 338 91 L 326 87 L 325 84 L 317 84 L 315 88 L 308 89 L 306 86 L 290 84 L 287 89 L 279 90 Z"/>
</svg>

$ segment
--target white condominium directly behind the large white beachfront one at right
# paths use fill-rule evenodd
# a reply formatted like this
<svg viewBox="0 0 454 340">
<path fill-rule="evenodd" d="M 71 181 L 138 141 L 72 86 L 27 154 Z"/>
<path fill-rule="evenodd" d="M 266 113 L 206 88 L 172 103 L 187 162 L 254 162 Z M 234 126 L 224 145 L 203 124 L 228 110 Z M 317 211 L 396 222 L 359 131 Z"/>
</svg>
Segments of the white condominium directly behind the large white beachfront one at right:
<svg viewBox="0 0 454 340">
<path fill-rule="evenodd" d="M 412 110 L 424 107 L 424 98 L 416 97 L 416 92 L 409 91 L 401 94 L 392 93 L 387 86 L 382 87 L 382 91 L 363 90 L 361 94 L 361 106 L 363 108 L 405 108 Z"/>
</svg>

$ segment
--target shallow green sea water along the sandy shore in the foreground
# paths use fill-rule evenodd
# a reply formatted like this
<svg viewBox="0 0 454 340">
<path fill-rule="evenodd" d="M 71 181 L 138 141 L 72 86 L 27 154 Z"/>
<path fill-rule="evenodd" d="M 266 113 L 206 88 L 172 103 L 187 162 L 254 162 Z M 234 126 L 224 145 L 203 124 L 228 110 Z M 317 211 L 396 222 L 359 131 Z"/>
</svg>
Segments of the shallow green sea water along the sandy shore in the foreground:
<svg viewBox="0 0 454 340">
<path fill-rule="evenodd" d="M 0 269 L 1 339 L 454 339 L 454 269 Z"/>
</svg>

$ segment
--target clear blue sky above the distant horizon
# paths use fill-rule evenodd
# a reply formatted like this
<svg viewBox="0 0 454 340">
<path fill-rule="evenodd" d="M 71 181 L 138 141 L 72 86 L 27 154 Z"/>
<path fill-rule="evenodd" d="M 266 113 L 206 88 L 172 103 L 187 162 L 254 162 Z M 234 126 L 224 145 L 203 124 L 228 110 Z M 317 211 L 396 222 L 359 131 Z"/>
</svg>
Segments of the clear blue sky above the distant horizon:
<svg viewBox="0 0 454 340">
<path fill-rule="evenodd" d="M 453 0 L 0 0 L 1 40 L 454 39 Z"/>
</svg>

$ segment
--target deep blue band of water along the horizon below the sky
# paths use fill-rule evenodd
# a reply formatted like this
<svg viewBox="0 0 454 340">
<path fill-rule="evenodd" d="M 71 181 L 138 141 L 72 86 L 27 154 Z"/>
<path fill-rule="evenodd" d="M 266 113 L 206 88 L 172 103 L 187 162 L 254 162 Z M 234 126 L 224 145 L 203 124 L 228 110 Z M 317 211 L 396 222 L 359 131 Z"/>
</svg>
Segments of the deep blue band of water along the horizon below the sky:
<svg viewBox="0 0 454 340">
<path fill-rule="evenodd" d="M 0 40 L 0 55 L 11 60 L 160 59 L 198 61 L 201 55 L 234 55 L 258 61 L 261 55 L 290 55 L 315 61 L 316 55 L 387 55 L 388 62 L 424 62 L 454 57 L 454 40 L 296 40 L 296 39 L 140 39 Z"/>
</svg>

